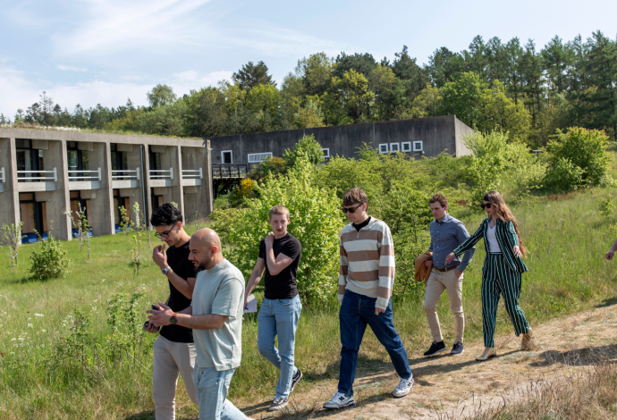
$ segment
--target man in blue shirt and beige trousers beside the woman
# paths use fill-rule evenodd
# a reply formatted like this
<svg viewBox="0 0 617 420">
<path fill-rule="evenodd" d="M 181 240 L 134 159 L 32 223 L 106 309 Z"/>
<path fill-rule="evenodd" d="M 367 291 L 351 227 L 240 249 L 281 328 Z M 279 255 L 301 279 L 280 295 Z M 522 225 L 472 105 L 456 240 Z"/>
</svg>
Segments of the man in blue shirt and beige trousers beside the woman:
<svg viewBox="0 0 617 420">
<path fill-rule="evenodd" d="M 424 298 L 424 311 L 427 314 L 428 325 L 433 335 L 433 344 L 424 354 L 424 357 L 432 357 L 445 350 L 444 337 L 439 328 L 439 316 L 437 316 L 437 302 L 444 290 L 448 290 L 450 310 L 454 315 L 454 345 L 451 355 L 458 356 L 463 352 L 463 331 L 465 329 L 465 315 L 462 308 L 462 281 L 463 272 L 471 262 L 476 247 L 465 253 L 463 260 L 453 258 L 450 264 L 445 264 L 445 257 L 453 249 L 461 245 L 469 238 L 469 232 L 461 221 L 448 214 L 448 199 L 440 193 L 436 193 L 428 200 L 431 212 L 435 220 L 430 224 L 431 246 L 433 260 L 425 264 L 433 268 L 427 280 L 427 292 Z"/>
</svg>

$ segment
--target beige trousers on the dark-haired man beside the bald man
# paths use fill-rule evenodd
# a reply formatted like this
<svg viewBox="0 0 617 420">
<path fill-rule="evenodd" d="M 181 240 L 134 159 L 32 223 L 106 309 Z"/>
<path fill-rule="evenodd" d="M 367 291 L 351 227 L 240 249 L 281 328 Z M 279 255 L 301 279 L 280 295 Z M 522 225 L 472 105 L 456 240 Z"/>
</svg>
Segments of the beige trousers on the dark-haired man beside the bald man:
<svg viewBox="0 0 617 420">
<path fill-rule="evenodd" d="M 175 390 L 178 374 L 182 374 L 184 388 L 190 400 L 199 404 L 193 371 L 195 369 L 195 344 L 177 343 L 158 336 L 154 344 L 152 364 L 152 396 L 155 400 L 156 420 L 175 419 Z"/>
</svg>

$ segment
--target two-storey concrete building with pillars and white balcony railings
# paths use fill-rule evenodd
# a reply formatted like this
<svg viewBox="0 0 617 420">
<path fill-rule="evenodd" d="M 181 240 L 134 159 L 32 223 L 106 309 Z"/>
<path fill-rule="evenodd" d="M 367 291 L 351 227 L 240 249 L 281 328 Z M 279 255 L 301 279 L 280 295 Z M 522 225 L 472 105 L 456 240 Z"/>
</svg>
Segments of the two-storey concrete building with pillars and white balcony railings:
<svg viewBox="0 0 617 420">
<path fill-rule="evenodd" d="M 61 130 L 0 128 L 0 226 L 24 223 L 36 240 L 53 221 L 57 239 L 72 239 L 64 211 L 86 208 L 94 235 L 114 234 L 119 207 L 152 210 L 175 202 L 191 220 L 212 212 L 209 142 Z"/>
</svg>

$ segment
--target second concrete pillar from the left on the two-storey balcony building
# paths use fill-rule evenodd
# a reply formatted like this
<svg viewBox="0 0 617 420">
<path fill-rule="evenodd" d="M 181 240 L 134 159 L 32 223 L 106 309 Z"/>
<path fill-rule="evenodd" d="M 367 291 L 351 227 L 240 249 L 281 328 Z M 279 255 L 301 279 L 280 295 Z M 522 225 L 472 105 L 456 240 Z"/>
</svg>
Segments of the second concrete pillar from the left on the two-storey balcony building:
<svg viewBox="0 0 617 420">
<path fill-rule="evenodd" d="M 68 162 L 66 158 L 66 141 L 49 140 L 49 149 L 43 155 L 45 170 L 53 168 L 57 171 L 58 181 L 55 182 L 55 191 L 46 200 L 47 229 L 50 222 L 54 222 L 53 233 L 55 239 L 71 240 L 71 220 L 64 210 L 71 210 L 71 195 L 69 191 Z"/>
</svg>

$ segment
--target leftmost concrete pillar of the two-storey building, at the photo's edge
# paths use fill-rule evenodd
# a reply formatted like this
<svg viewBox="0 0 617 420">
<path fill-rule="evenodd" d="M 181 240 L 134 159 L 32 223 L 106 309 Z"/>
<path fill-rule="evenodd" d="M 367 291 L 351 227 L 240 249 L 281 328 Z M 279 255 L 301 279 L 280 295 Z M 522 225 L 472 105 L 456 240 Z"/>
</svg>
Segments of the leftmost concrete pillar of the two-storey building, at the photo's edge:
<svg viewBox="0 0 617 420">
<path fill-rule="evenodd" d="M 20 221 L 15 139 L 0 139 L 0 168 L 4 168 L 4 192 L 0 192 L 0 226 Z"/>
</svg>

